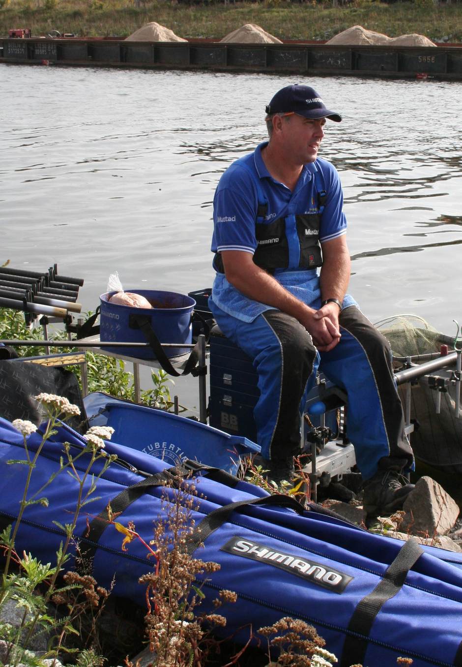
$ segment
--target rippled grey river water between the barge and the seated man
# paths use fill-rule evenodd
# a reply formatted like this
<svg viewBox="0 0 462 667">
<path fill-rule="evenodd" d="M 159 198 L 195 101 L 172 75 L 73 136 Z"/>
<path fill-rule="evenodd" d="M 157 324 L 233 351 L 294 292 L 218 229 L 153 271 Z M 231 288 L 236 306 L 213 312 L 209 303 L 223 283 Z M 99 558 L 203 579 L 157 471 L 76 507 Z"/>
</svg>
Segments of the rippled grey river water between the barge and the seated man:
<svg viewBox="0 0 462 667">
<path fill-rule="evenodd" d="M 0 67 L 0 263 L 83 277 L 94 310 L 125 289 L 213 281 L 213 191 L 265 138 L 265 105 L 301 77 Z M 312 77 L 327 106 L 321 156 L 339 170 L 350 289 L 372 321 L 462 322 L 462 83 Z"/>
</svg>

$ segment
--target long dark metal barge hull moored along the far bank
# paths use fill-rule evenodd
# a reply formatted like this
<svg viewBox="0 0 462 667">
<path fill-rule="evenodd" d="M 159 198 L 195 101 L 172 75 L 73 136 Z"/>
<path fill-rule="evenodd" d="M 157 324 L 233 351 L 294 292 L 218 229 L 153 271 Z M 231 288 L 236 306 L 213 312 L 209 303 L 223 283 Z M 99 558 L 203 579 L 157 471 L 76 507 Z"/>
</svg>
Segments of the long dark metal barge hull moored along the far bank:
<svg viewBox="0 0 462 667">
<path fill-rule="evenodd" d="M 0 63 L 462 80 L 462 47 L 0 37 Z"/>
</svg>

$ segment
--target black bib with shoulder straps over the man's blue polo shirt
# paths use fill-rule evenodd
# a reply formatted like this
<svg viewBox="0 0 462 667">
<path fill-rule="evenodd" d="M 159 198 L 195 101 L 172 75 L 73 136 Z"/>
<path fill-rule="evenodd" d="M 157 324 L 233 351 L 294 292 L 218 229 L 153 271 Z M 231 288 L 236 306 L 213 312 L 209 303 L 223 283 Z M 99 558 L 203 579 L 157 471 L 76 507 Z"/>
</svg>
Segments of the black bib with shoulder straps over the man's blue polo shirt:
<svg viewBox="0 0 462 667">
<path fill-rule="evenodd" d="M 275 269 L 315 269 L 321 266 L 323 257 L 319 244 L 319 225 L 327 193 L 321 183 L 319 169 L 314 173 L 317 212 L 287 215 L 269 222 L 266 220 L 268 202 L 263 195 L 259 178 L 247 164 L 242 162 L 241 166 L 251 175 L 258 192 L 259 203 L 255 220 L 255 237 L 258 245 L 253 254 L 255 264 L 269 273 L 273 273 Z M 303 208 L 306 209 L 307 206 Z M 299 250 L 299 257 L 297 257 L 299 261 L 297 265 L 294 265 L 294 250 L 295 254 L 298 254 L 297 249 Z M 213 265 L 219 273 L 225 272 L 220 253 L 215 254 Z"/>
</svg>

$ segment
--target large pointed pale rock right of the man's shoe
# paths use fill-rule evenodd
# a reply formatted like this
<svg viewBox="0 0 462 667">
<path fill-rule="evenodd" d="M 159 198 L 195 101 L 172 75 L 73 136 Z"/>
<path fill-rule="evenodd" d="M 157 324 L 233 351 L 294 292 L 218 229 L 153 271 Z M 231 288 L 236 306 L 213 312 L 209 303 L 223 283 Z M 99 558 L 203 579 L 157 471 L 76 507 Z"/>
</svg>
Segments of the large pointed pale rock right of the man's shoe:
<svg viewBox="0 0 462 667">
<path fill-rule="evenodd" d="M 455 500 L 430 477 L 420 478 L 407 496 L 403 510 L 405 516 L 400 530 L 430 538 L 446 535 L 459 516 Z"/>
</svg>

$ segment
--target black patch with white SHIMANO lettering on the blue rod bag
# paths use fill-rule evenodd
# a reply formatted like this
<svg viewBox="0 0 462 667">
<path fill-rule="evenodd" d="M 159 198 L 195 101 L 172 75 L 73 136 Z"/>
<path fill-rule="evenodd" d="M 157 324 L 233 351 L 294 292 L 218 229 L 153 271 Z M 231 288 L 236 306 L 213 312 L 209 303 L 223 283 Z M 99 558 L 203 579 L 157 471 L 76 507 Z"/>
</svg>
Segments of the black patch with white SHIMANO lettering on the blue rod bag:
<svg viewBox="0 0 462 667">
<path fill-rule="evenodd" d="M 349 576 L 349 574 L 344 574 L 329 566 L 320 565 L 313 560 L 301 558 L 301 556 L 293 556 L 292 554 L 275 550 L 264 544 L 259 544 L 259 542 L 237 536 L 231 538 L 229 542 L 222 546 L 221 551 L 233 554 L 234 556 L 243 556 L 243 558 L 264 562 L 280 570 L 285 570 L 285 572 L 295 574 L 311 584 L 327 588 L 333 593 L 343 593 L 349 582 L 353 580 L 353 577 Z"/>
</svg>

